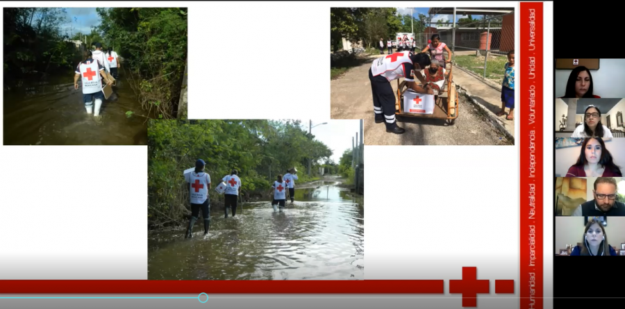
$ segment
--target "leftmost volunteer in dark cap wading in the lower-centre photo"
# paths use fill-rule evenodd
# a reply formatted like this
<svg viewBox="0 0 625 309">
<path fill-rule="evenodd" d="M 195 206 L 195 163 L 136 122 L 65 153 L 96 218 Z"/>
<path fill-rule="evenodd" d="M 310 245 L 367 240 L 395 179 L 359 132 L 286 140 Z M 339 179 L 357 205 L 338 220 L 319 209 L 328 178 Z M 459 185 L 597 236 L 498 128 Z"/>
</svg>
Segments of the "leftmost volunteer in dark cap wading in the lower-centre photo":
<svg viewBox="0 0 625 309">
<path fill-rule="evenodd" d="M 189 183 L 189 195 L 191 201 L 191 220 L 185 233 L 185 238 L 193 237 L 193 225 L 199 216 L 199 210 L 202 209 L 202 217 L 204 219 L 204 235 L 208 234 L 208 226 L 210 226 L 210 200 L 208 199 L 208 190 L 210 190 L 210 176 L 204 172 L 206 162 L 198 159 L 195 162 L 195 171 L 185 174 L 185 181 Z"/>
</svg>

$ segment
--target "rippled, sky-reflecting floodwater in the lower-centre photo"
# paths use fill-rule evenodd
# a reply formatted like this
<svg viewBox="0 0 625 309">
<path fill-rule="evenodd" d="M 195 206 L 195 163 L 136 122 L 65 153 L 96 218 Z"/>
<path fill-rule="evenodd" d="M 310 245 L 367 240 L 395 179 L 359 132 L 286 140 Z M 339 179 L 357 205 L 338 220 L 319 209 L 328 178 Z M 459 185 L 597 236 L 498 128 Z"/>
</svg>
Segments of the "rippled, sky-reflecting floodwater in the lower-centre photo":
<svg viewBox="0 0 625 309">
<path fill-rule="evenodd" d="M 244 203 L 236 217 L 212 210 L 191 239 L 184 229 L 149 233 L 149 280 L 364 280 L 364 210 L 336 182 L 295 190 L 295 203 Z"/>
</svg>

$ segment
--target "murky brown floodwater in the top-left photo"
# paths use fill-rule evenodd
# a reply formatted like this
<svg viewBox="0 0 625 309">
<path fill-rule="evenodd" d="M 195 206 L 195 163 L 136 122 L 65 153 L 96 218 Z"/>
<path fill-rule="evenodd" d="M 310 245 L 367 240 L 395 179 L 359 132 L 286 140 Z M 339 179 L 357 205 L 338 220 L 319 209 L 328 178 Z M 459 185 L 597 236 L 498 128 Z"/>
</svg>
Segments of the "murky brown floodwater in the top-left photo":
<svg viewBox="0 0 625 309">
<path fill-rule="evenodd" d="M 146 118 L 123 71 L 114 93 L 104 100 L 100 119 L 88 115 L 83 90 L 74 72 L 47 81 L 23 81 L 4 90 L 4 144 L 6 145 L 144 145 Z"/>
</svg>

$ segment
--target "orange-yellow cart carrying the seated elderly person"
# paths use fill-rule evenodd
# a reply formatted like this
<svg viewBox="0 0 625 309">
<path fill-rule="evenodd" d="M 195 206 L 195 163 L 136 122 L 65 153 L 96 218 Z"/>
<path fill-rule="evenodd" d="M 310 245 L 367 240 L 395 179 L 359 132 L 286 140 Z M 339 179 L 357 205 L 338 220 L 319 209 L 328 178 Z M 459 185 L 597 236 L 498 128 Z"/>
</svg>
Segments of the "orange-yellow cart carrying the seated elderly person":
<svg viewBox="0 0 625 309">
<path fill-rule="evenodd" d="M 406 81 L 399 83 L 397 80 L 397 97 L 395 98 L 395 115 L 398 117 L 417 117 L 417 118 L 432 118 L 432 119 L 444 119 L 447 123 L 453 124 L 458 118 L 458 92 L 456 91 L 456 85 L 453 84 L 453 75 L 451 70 L 453 65 L 450 65 L 449 74 L 445 76 L 445 83 L 440 90 L 440 94 L 434 96 L 434 112 L 431 115 L 428 114 L 412 114 L 410 112 L 403 112 L 403 93 L 408 90 L 406 87 Z M 419 74 L 421 74 L 419 72 Z"/>
</svg>

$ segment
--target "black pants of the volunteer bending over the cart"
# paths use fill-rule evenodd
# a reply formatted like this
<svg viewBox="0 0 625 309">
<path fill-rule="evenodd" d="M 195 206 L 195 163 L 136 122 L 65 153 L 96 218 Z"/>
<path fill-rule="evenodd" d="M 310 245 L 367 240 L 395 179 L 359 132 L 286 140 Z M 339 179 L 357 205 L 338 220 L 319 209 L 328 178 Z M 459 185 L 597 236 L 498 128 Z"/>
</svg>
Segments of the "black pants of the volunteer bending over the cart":
<svg viewBox="0 0 625 309">
<path fill-rule="evenodd" d="M 374 112 L 376 121 L 384 120 L 387 129 L 397 126 L 395 121 L 395 94 L 393 87 L 384 76 L 373 76 L 369 69 L 369 81 L 371 81 L 371 91 L 374 99 Z"/>
</svg>

